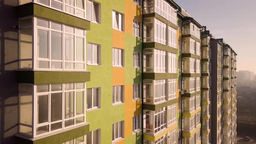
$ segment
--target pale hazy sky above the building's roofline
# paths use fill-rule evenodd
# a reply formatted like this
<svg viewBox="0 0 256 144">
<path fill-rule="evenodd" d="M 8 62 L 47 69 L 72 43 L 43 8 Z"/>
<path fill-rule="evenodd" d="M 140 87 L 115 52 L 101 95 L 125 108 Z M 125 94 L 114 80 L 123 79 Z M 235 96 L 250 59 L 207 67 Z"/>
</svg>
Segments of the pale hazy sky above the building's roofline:
<svg viewBox="0 0 256 144">
<path fill-rule="evenodd" d="M 237 53 L 237 70 L 256 74 L 256 0 L 174 0 Z"/>
</svg>

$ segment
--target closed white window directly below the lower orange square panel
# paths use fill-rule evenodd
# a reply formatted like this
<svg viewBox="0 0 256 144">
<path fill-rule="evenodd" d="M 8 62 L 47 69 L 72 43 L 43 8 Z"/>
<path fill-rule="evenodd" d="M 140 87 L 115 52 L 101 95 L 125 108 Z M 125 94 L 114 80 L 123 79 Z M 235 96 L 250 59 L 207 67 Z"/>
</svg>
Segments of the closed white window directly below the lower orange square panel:
<svg viewBox="0 0 256 144">
<path fill-rule="evenodd" d="M 124 102 L 124 86 L 113 86 L 112 104 L 119 104 Z"/>
</svg>

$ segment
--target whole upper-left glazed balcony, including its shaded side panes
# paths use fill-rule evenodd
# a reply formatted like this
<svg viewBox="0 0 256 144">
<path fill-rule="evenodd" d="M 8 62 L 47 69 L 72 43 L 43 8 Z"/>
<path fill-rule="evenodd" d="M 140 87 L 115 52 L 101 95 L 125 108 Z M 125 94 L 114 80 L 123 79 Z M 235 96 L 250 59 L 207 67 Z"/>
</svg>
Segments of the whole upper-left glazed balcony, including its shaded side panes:
<svg viewBox="0 0 256 144">
<path fill-rule="evenodd" d="M 19 69 L 86 70 L 85 30 L 36 17 L 19 27 Z"/>
</svg>

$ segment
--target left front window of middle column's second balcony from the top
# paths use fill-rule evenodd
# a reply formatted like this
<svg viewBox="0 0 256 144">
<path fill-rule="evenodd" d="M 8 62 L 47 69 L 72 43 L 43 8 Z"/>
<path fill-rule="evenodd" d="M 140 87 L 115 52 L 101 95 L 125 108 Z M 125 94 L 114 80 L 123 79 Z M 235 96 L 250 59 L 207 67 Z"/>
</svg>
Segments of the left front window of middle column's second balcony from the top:
<svg viewBox="0 0 256 144">
<path fill-rule="evenodd" d="M 154 19 L 154 41 L 166 45 L 166 24 Z"/>
</svg>

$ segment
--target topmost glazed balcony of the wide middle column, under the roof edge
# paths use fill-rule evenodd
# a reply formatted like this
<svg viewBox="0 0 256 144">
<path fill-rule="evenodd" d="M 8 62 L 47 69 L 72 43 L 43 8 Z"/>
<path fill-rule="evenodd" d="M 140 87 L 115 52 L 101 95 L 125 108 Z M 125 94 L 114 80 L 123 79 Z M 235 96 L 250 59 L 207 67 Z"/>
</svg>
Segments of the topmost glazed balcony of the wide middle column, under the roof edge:
<svg viewBox="0 0 256 144">
<path fill-rule="evenodd" d="M 177 12 L 167 0 L 144 0 L 144 14 L 158 13 L 166 20 L 177 25 Z"/>
</svg>

